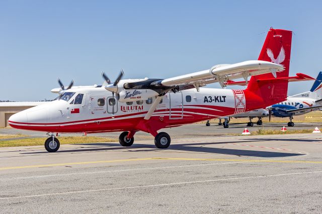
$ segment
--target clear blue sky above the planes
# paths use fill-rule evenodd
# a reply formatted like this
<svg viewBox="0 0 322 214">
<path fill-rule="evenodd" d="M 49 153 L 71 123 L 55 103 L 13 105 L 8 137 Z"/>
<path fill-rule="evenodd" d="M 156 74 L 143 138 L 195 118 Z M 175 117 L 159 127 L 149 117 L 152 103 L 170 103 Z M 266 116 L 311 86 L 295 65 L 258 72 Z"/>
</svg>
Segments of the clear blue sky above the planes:
<svg viewBox="0 0 322 214">
<path fill-rule="evenodd" d="M 54 98 L 71 79 L 167 78 L 257 59 L 272 26 L 294 32 L 290 75 L 322 70 L 320 1 L 0 1 L 0 100 Z M 290 83 L 289 94 L 312 81 Z M 218 84 L 210 85 L 219 87 Z"/>
</svg>

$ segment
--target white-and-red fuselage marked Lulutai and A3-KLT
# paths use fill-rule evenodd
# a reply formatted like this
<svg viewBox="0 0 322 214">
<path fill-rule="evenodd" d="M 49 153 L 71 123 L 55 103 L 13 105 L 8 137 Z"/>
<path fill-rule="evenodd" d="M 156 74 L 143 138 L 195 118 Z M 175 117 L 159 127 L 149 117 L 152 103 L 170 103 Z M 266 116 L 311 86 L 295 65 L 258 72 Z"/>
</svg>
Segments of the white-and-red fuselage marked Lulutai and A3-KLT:
<svg viewBox="0 0 322 214">
<path fill-rule="evenodd" d="M 69 89 L 57 100 L 13 115 L 9 124 L 17 129 L 59 133 L 136 130 L 154 100 L 149 97 L 119 102 L 103 87 Z M 256 105 L 248 103 L 256 100 L 243 90 L 200 88 L 199 92 L 170 92 L 150 120 L 160 128 L 181 126 L 251 111 Z"/>
</svg>

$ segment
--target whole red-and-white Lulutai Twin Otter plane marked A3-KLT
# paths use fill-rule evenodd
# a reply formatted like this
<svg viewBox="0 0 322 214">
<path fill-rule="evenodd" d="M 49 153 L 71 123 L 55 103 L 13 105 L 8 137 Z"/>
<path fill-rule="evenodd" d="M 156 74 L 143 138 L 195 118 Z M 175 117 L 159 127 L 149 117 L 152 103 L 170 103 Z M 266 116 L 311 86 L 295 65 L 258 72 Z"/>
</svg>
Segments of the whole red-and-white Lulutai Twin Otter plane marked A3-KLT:
<svg viewBox="0 0 322 214">
<path fill-rule="evenodd" d="M 168 148 L 170 136 L 157 132 L 237 113 L 243 113 L 286 100 L 292 32 L 270 29 L 259 60 L 220 64 L 208 70 L 168 79 L 106 80 L 103 86 L 62 86 L 60 96 L 10 117 L 16 129 L 51 133 L 45 141 L 48 152 L 59 149 L 55 133 L 120 132 L 122 146 L 131 146 L 137 131 L 154 136 L 157 148 Z M 267 49 L 278 56 L 285 51 L 283 65 L 271 62 Z M 231 79 L 251 79 L 244 90 L 201 88 Z M 60 82 L 60 81 L 59 81 Z M 56 135 L 57 135 L 56 134 Z"/>
</svg>

